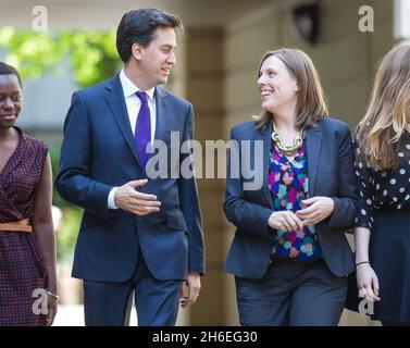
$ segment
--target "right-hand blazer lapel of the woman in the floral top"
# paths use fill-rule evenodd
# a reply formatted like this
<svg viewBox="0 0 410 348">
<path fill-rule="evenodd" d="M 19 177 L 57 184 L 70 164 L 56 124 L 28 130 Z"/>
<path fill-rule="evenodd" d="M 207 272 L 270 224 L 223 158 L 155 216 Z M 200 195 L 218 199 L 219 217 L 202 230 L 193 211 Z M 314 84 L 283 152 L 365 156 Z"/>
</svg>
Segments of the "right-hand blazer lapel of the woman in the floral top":
<svg viewBox="0 0 410 348">
<path fill-rule="evenodd" d="M 322 147 L 322 129 L 320 124 L 307 132 L 307 151 L 308 151 L 308 175 L 309 175 L 309 194 L 314 196 L 316 175 L 319 171 L 319 159 Z"/>
</svg>

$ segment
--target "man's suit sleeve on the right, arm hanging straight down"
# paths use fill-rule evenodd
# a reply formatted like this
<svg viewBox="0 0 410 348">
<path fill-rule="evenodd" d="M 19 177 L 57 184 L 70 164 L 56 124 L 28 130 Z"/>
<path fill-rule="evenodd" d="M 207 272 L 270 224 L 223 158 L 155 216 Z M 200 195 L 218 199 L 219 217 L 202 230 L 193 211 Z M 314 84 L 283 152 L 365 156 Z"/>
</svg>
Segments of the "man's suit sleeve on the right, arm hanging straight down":
<svg viewBox="0 0 410 348">
<path fill-rule="evenodd" d="M 192 105 L 189 104 L 183 135 L 183 144 L 194 138 L 195 117 Z M 192 153 L 181 153 L 181 164 L 189 161 L 194 169 Z M 185 165 L 185 164 L 184 164 Z M 190 178 L 181 176 L 177 179 L 179 204 L 188 227 L 188 272 L 204 274 L 204 244 L 202 216 L 195 174 Z"/>
</svg>

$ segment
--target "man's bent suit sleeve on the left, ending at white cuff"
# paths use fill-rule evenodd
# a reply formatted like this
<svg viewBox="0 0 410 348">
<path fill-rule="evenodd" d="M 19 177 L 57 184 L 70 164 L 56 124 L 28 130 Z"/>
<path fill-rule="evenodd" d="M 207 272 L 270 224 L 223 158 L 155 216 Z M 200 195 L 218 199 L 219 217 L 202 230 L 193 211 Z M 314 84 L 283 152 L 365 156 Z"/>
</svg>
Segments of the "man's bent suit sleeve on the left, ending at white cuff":
<svg viewBox="0 0 410 348">
<path fill-rule="evenodd" d="M 60 173 L 55 187 L 65 200 L 108 220 L 108 196 L 112 186 L 89 177 L 91 159 L 91 125 L 87 107 L 80 92 L 74 92 L 64 122 Z"/>
</svg>

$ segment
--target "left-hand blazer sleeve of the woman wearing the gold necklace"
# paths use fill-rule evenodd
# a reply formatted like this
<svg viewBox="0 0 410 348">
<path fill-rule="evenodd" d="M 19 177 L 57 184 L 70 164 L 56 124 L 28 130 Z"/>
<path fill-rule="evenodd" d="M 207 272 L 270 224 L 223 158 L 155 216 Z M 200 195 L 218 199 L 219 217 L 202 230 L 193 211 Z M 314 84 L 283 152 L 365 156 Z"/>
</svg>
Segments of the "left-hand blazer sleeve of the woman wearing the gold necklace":
<svg viewBox="0 0 410 348">
<path fill-rule="evenodd" d="M 233 161 L 234 157 L 238 157 L 239 159 Z M 232 163 L 239 164 L 238 171 L 235 171 L 238 172 L 239 175 L 233 173 L 231 167 Z M 240 139 L 237 137 L 234 127 L 229 136 L 226 191 L 223 206 L 224 212 L 226 219 L 233 223 L 240 233 L 270 237 L 273 229 L 269 226 L 268 221 L 273 211 L 266 207 L 247 200 L 244 191 L 241 166 Z"/>
</svg>

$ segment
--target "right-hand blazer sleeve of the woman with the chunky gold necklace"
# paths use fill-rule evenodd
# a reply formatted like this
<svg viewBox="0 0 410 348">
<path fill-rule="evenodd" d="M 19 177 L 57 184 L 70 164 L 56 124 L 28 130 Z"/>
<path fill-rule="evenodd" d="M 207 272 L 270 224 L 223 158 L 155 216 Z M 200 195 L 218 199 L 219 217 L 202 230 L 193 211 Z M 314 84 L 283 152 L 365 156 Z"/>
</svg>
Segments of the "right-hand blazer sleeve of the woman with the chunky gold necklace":
<svg viewBox="0 0 410 348">
<path fill-rule="evenodd" d="M 340 132 L 336 132 L 335 136 L 339 149 L 339 190 L 336 197 L 331 197 L 335 208 L 323 225 L 330 228 L 349 228 L 356 217 L 358 204 L 353 142 L 347 125 L 344 125 Z"/>
</svg>

